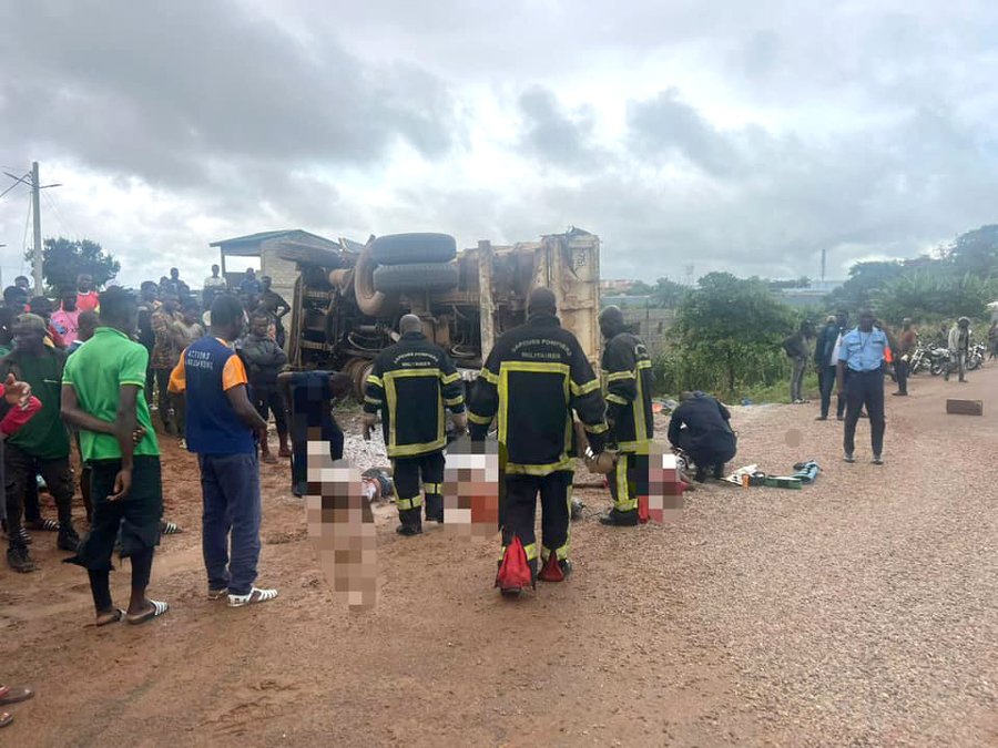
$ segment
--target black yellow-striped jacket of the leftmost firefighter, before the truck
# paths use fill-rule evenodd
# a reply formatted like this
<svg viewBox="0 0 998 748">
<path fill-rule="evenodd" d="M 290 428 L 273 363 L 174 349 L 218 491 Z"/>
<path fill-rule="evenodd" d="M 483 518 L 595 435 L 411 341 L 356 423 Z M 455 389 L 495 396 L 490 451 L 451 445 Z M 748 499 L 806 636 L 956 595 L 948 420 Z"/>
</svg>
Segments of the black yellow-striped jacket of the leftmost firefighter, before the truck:
<svg viewBox="0 0 998 748">
<path fill-rule="evenodd" d="M 389 458 L 419 457 L 447 445 L 444 408 L 465 410 L 465 385 L 454 361 L 422 332 L 407 332 L 375 359 L 364 411 L 381 411 Z"/>
</svg>

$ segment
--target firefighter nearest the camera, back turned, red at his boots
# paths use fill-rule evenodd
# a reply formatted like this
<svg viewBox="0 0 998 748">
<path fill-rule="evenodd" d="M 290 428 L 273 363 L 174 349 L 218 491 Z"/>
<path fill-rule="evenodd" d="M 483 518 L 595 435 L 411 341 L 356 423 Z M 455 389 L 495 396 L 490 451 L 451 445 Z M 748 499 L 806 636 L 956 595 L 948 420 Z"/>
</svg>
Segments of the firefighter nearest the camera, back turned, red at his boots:
<svg viewBox="0 0 998 748">
<path fill-rule="evenodd" d="M 496 341 L 475 385 L 468 413 L 472 441 L 485 439 L 493 418 L 499 421 L 502 561 L 496 584 L 509 595 L 519 594 L 538 576 L 556 582 L 571 573 L 572 410 L 582 421 L 593 452 L 603 451 L 607 432 L 599 380 L 576 336 L 561 327 L 556 315 L 554 294 L 547 288 L 531 291 L 527 324 Z M 542 511 L 540 574 L 533 530 L 538 492 Z M 522 568 L 510 553 L 519 545 L 529 575 L 522 584 L 512 585 L 503 581 L 502 568 L 507 563 Z"/>
</svg>

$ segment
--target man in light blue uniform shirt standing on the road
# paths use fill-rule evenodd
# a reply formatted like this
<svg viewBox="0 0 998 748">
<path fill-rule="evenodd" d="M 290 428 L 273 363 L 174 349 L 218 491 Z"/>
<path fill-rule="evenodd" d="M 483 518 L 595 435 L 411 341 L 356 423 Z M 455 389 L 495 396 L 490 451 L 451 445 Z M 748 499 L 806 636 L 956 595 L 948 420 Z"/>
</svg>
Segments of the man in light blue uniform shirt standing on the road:
<svg viewBox="0 0 998 748">
<path fill-rule="evenodd" d="M 873 463 L 884 464 L 884 356 L 890 341 L 887 334 L 874 327 L 874 316 L 868 309 L 859 312 L 859 327 L 842 337 L 838 351 L 838 395 L 845 395 L 846 420 L 843 448 L 845 461 L 855 462 L 856 423 L 863 406 L 869 416 L 869 433 L 873 445 Z"/>
</svg>

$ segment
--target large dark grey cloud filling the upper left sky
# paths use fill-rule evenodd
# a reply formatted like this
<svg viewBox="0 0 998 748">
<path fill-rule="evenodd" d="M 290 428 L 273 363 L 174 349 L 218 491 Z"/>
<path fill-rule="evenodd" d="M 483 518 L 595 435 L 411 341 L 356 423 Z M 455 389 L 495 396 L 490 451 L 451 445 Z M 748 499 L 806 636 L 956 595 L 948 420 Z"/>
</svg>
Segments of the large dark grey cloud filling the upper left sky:
<svg viewBox="0 0 998 748">
<path fill-rule="evenodd" d="M 233 2 L 6 3 L 0 141 L 153 182 L 197 184 L 208 160 L 364 164 L 395 140 L 440 156 L 442 84 L 305 47 Z"/>
</svg>

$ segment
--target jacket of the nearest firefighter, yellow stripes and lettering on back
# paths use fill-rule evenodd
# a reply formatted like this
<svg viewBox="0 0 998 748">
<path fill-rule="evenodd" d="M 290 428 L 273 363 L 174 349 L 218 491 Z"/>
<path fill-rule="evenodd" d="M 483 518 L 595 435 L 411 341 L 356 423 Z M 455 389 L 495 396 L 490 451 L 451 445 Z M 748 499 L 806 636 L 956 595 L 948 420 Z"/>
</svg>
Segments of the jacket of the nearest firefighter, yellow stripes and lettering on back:
<svg viewBox="0 0 998 748">
<path fill-rule="evenodd" d="M 572 469 L 572 410 L 592 450 L 602 452 L 605 406 L 592 366 L 557 317 L 533 315 L 489 352 L 471 393 L 468 426 L 471 439 L 482 440 L 497 418 L 506 473 L 548 475 Z"/>
</svg>

